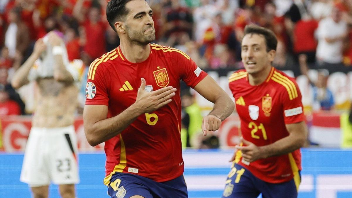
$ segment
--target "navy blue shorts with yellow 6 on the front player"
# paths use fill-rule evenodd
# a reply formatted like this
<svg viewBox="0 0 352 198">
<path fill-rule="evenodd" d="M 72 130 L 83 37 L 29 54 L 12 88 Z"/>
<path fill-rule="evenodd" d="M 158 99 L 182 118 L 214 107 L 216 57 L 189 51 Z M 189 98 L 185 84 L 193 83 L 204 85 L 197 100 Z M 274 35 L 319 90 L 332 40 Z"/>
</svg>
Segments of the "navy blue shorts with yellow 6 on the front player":
<svg viewBox="0 0 352 198">
<path fill-rule="evenodd" d="M 112 198 L 130 198 L 134 195 L 145 198 L 188 197 L 183 175 L 170 181 L 157 182 L 135 174 L 115 173 L 110 181 L 108 195 Z"/>
</svg>

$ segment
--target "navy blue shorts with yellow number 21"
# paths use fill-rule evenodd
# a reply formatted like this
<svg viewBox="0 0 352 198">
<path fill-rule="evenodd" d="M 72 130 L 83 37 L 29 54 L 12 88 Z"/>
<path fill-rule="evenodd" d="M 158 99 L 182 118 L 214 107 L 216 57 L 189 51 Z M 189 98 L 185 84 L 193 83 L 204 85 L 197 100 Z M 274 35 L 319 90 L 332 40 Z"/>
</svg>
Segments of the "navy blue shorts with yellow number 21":
<svg viewBox="0 0 352 198">
<path fill-rule="evenodd" d="M 223 198 L 257 198 L 260 193 L 263 198 L 297 198 L 298 193 L 294 179 L 272 184 L 258 179 L 241 165 L 235 164 L 234 168 L 227 177 L 228 183 L 225 185 Z M 301 181 L 301 172 L 299 174 Z"/>
</svg>

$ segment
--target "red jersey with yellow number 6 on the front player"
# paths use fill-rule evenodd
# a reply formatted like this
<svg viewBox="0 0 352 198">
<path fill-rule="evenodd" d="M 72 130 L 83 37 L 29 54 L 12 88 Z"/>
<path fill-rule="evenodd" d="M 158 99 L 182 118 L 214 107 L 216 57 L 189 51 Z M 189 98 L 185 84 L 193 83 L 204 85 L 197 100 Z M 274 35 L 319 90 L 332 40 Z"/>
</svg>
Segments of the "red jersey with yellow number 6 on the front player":
<svg viewBox="0 0 352 198">
<path fill-rule="evenodd" d="M 108 118 L 136 101 L 142 77 L 146 91 L 177 88 L 171 103 L 140 115 L 121 134 L 105 142 L 105 185 L 115 172 L 138 174 L 158 182 L 183 173 L 180 80 L 193 88 L 207 74 L 178 49 L 157 44 L 150 44 L 150 48 L 149 57 L 140 63 L 128 61 L 118 47 L 96 59 L 89 68 L 86 105 L 107 105 Z"/>
</svg>

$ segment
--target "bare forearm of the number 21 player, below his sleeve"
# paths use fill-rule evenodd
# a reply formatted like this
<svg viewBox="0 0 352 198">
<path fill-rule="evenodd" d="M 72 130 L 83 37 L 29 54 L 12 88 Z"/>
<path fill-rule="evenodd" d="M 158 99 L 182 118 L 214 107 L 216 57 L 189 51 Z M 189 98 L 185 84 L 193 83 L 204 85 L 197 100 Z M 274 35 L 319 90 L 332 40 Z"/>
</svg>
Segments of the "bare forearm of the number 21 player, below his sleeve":
<svg viewBox="0 0 352 198">
<path fill-rule="evenodd" d="M 296 134 L 290 134 L 272 144 L 259 147 L 262 150 L 263 158 L 284 155 L 291 153 L 304 146 L 305 137 Z"/>
</svg>

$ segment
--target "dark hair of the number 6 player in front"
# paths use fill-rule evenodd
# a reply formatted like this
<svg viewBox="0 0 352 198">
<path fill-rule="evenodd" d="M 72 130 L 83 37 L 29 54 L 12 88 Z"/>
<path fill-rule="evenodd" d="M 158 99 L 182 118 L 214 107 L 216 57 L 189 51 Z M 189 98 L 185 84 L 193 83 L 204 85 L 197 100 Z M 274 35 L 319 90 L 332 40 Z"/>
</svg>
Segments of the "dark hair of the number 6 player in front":
<svg viewBox="0 0 352 198">
<path fill-rule="evenodd" d="M 110 0 L 106 6 L 106 19 L 110 26 L 115 30 L 115 22 L 125 21 L 126 15 L 129 10 L 126 8 L 126 4 L 132 0 Z M 115 30 L 116 32 L 116 30 Z"/>
</svg>

